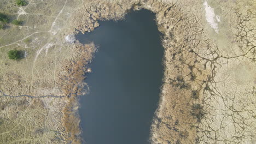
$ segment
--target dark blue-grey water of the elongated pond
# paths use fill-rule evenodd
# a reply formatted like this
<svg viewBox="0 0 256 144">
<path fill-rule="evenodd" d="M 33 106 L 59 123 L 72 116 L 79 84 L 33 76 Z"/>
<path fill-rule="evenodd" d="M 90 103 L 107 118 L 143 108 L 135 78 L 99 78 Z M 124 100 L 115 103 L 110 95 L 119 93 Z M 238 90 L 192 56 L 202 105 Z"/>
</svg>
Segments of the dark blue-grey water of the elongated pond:
<svg viewBox="0 0 256 144">
<path fill-rule="evenodd" d="M 164 50 L 154 19 L 148 10 L 132 11 L 124 21 L 103 21 L 95 31 L 76 36 L 80 43 L 100 46 L 86 79 L 90 93 L 80 98 L 86 143 L 149 143 Z"/>
</svg>

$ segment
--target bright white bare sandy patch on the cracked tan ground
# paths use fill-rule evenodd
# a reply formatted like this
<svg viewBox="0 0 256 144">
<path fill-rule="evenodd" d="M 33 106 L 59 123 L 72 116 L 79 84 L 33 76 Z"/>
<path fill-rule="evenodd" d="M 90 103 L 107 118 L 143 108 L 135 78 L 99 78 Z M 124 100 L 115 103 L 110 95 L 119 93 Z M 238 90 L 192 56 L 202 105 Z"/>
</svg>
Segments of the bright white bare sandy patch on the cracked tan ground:
<svg viewBox="0 0 256 144">
<path fill-rule="evenodd" d="M 220 16 L 214 14 L 214 9 L 208 5 L 205 1 L 203 3 L 205 6 L 205 17 L 210 26 L 215 30 L 216 33 L 219 33 L 218 23 L 220 22 Z"/>
</svg>

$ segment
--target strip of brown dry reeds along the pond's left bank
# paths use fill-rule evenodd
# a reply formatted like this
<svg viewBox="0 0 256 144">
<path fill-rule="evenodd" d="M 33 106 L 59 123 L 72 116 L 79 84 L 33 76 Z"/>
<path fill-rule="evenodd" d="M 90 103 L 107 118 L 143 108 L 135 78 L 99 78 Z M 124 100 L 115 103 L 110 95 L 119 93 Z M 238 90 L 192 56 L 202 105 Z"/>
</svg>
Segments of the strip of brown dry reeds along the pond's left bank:
<svg viewBox="0 0 256 144">
<path fill-rule="evenodd" d="M 94 44 L 76 44 L 75 50 L 77 55 L 70 61 L 66 62 L 63 69 L 60 70 L 63 75 L 59 75 L 59 79 L 62 85 L 62 91 L 68 96 L 68 102 L 63 109 L 64 117 L 62 119 L 63 126 L 68 132 L 67 139 L 72 143 L 81 143 L 80 140 L 80 128 L 79 128 L 79 116 L 78 116 L 78 95 L 82 95 L 84 89 L 84 80 L 86 69 L 96 51 Z"/>
</svg>

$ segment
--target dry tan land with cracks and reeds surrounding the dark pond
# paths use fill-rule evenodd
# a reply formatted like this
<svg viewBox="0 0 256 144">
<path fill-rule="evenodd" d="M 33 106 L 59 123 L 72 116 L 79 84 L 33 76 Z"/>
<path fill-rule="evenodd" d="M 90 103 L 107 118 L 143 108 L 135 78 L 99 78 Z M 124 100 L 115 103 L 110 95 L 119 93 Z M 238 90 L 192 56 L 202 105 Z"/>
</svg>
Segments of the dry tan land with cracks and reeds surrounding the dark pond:
<svg viewBox="0 0 256 144">
<path fill-rule="evenodd" d="M 1 1 L 25 23 L 0 30 L 0 143 L 81 143 L 77 95 L 96 48 L 67 36 L 140 8 L 164 34 L 152 143 L 255 143 L 256 4 L 238 0 Z M 11 49 L 27 56 L 10 61 Z"/>
</svg>

